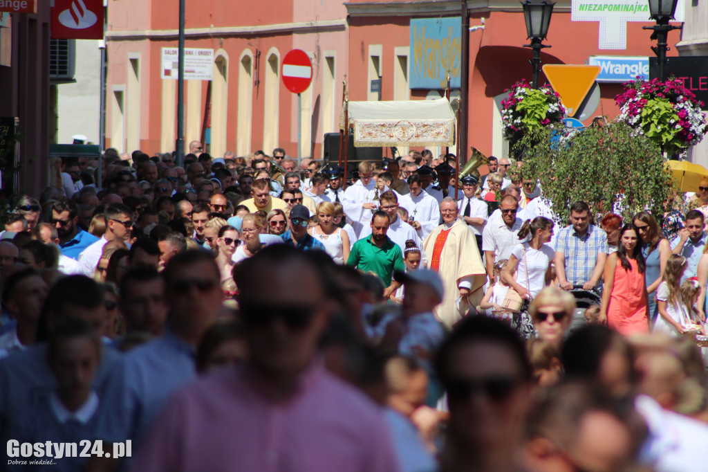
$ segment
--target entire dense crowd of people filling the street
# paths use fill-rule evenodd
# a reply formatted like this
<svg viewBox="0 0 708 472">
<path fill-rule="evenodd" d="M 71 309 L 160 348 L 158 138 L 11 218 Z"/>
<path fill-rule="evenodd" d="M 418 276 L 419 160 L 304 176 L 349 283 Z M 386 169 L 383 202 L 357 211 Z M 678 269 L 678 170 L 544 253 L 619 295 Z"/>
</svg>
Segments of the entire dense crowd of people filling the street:
<svg viewBox="0 0 708 472">
<path fill-rule="evenodd" d="M 8 215 L 2 468 L 708 471 L 708 181 L 556 229 L 506 158 L 189 147 L 57 160 Z"/>
</svg>

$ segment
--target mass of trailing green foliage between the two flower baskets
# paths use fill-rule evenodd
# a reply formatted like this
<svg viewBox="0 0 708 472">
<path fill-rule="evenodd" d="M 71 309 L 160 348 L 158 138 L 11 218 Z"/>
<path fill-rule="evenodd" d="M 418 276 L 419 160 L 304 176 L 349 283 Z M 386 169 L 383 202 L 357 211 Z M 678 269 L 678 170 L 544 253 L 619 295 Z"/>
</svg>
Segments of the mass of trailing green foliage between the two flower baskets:
<svg viewBox="0 0 708 472">
<path fill-rule="evenodd" d="M 595 215 L 615 212 L 625 220 L 649 209 L 663 220 L 663 203 L 674 183 L 664 170 L 661 149 L 645 135 L 633 135 L 622 122 L 590 127 L 570 137 L 561 127 L 528 133 L 515 146 L 523 150 L 525 176 L 539 179 L 559 224 L 569 206 L 586 201 Z"/>
</svg>

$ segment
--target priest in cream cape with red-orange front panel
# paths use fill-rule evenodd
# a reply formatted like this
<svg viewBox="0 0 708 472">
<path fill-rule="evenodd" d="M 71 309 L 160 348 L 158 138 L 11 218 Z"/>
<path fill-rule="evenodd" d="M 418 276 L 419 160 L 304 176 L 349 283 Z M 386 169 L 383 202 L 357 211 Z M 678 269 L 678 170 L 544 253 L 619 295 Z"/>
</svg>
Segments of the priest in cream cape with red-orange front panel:
<svg viewBox="0 0 708 472">
<path fill-rule="evenodd" d="M 469 307 L 481 302 L 486 273 L 474 233 L 464 220 L 458 218 L 455 198 L 442 199 L 440 215 L 442 225 L 426 237 L 421 249 L 428 254 L 428 267 L 440 274 L 445 286 L 445 296 L 435 307 L 435 315 L 445 326 L 452 328 L 467 314 Z M 458 299 L 460 303 L 457 303 Z"/>
</svg>

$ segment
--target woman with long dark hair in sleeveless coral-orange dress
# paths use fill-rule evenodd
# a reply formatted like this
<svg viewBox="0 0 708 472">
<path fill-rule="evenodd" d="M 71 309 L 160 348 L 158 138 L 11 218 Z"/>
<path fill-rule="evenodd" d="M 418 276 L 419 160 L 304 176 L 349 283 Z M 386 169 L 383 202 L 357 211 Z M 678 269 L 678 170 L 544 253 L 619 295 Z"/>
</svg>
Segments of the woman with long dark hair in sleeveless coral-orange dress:
<svg viewBox="0 0 708 472">
<path fill-rule="evenodd" d="M 605 288 L 600 321 L 621 335 L 649 332 L 649 304 L 644 272 L 646 263 L 641 254 L 639 232 L 627 224 L 619 233 L 617 252 L 605 263 Z"/>
</svg>

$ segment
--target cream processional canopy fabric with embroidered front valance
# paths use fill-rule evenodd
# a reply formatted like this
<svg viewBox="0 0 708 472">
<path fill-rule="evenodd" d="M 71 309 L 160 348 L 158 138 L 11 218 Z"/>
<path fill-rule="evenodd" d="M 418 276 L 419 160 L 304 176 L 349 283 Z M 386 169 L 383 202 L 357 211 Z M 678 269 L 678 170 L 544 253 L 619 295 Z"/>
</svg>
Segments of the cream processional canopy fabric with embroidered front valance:
<svg viewBox="0 0 708 472">
<path fill-rule="evenodd" d="M 348 109 L 355 147 L 455 144 L 455 112 L 447 99 L 350 101 Z"/>
</svg>

